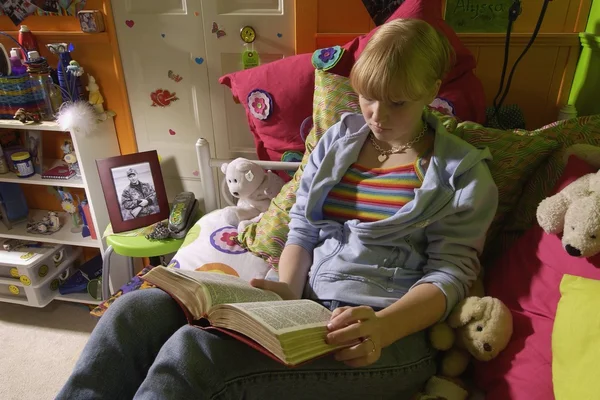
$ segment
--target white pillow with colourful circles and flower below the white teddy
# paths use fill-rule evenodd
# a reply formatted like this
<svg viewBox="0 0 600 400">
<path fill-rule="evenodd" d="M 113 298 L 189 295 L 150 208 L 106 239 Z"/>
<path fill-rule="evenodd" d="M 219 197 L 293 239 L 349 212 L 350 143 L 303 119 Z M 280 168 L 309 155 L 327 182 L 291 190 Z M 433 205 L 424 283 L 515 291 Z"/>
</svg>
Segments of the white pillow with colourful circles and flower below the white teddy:
<svg viewBox="0 0 600 400">
<path fill-rule="evenodd" d="M 206 214 L 190 229 L 169 266 L 221 272 L 246 281 L 264 278 L 269 264 L 237 244 L 237 234 L 236 227 L 222 221 L 221 210 Z"/>
</svg>

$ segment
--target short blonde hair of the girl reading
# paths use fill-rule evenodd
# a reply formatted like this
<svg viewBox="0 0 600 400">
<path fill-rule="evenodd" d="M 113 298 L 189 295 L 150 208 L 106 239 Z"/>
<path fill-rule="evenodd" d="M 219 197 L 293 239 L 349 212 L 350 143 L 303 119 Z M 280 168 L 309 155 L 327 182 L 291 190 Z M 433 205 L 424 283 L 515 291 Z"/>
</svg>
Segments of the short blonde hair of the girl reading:
<svg viewBox="0 0 600 400">
<path fill-rule="evenodd" d="M 454 63 L 454 49 L 435 28 L 418 19 L 382 25 L 350 72 L 354 90 L 389 103 L 420 100 Z"/>
</svg>

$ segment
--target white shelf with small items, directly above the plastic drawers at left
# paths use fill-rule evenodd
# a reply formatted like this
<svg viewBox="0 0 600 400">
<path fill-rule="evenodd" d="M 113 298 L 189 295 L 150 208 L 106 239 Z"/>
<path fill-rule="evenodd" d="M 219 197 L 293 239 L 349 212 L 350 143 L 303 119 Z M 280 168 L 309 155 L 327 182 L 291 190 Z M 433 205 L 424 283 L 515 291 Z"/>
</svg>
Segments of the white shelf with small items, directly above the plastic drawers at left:
<svg viewBox="0 0 600 400">
<path fill-rule="evenodd" d="M 46 216 L 48 211 L 46 210 L 30 210 L 29 218 L 35 221 L 41 220 Z M 58 243 L 67 244 L 71 246 L 82 246 L 82 247 L 95 247 L 101 248 L 101 242 L 91 237 L 82 237 L 81 232 L 71 232 L 71 217 L 63 212 L 58 213 L 61 223 L 64 225 L 58 232 L 51 235 L 40 235 L 35 233 L 27 232 L 27 222 L 21 222 L 14 224 L 12 229 L 7 229 L 6 226 L 0 224 L 0 238 L 9 239 L 22 239 L 22 240 L 33 240 L 44 243 Z"/>
</svg>

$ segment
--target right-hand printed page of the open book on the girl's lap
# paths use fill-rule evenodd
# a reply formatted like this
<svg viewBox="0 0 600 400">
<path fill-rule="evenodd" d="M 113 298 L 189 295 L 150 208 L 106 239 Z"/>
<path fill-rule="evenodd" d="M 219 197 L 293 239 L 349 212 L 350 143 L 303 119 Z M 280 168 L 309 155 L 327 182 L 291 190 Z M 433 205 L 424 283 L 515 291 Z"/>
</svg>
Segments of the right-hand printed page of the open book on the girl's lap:
<svg viewBox="0 0 600 400">
<path fill-rule="evenodd" d="M 311 300 L 228 304 L 227 307 L 242 310 L 278 336 L 302 329 L 325 327 L 331 318 L 331 311 Z"/>
</svg>

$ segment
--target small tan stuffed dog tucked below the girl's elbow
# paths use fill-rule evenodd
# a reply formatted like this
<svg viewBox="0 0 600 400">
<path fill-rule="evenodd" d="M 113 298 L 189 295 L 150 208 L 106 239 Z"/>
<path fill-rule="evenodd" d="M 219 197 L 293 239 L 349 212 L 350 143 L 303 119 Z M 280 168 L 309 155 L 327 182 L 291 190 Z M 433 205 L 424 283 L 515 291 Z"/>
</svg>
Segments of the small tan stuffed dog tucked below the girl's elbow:
<svg viewBox="0 0 600 400">
<path fill-rule="evenodd" d="M 427 383 L 420 399 L 466 399 L 468 392 L 456 378 L 467 369 L 471 356 L 480 361 L 496 357 L 508 345 L 512 331 L 512 314 L 502 301 L 489 296 L 464 299 L 446 321 L 429 330 L 431 345 L 445 353 L 438 376 Z"/>
</svg>

